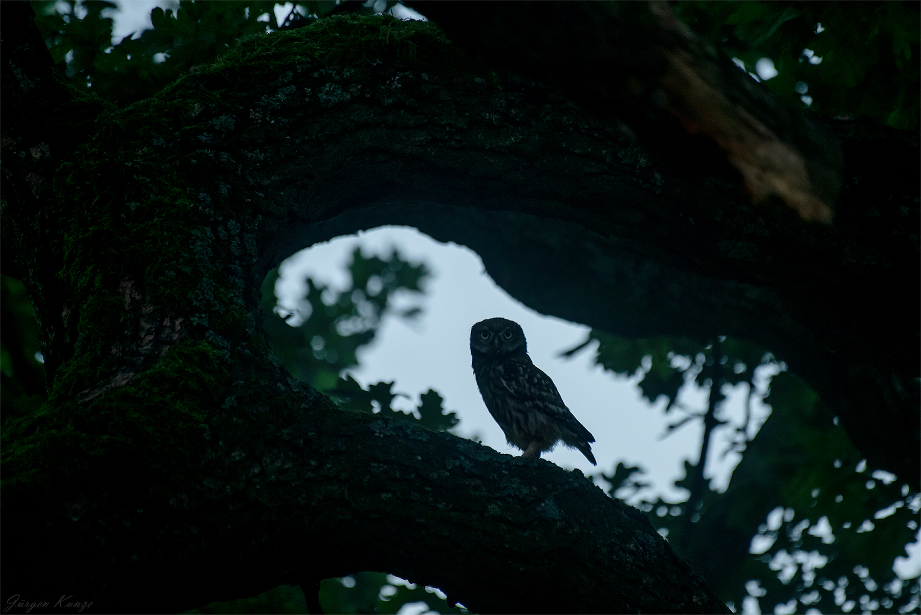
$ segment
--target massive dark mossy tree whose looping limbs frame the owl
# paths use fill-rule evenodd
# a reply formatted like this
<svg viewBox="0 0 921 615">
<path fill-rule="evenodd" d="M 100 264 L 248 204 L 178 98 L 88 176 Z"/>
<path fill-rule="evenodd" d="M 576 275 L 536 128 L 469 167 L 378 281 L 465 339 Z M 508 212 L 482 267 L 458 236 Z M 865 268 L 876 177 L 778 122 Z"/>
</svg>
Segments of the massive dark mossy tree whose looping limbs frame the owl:
<svg viewBox="0 0 921 615">
<path fill-rule="evenodd" d="M 909 448 L 873 437 L 916 434 L 917 339 L 897 327 L 917 298 L 884 282 L 917 266 L 917 201 L 884 161 L 857 160 L 831 227 L 767 214 L 725 169 L 653 162 L 426 24 L 252 38 L 127 109 L 67 89 L 34 29 L 3 45 L 4 266 L 36 301 L 50 383 L 4 435 L 5 600 L 168 611 L 381 570 L 482 611 L 724 609 L 578 473 L 339 411 L 272 360 L 267 271 L 382 223 L 471 246 L 542 312 L 760 341 L 860 429 L 866 400 L 891 413 L 862 442 L 904 472 Z M 894 331 L 915 337 L 893 355 Z"/>
</svg>

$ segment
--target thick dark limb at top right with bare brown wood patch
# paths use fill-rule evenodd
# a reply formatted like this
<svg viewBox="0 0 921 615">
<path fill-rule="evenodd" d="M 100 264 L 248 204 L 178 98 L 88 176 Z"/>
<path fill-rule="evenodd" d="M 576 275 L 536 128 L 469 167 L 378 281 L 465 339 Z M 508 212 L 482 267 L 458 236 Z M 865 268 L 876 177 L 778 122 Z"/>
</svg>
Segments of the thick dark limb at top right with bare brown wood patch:
<svg viewBox="0 0 921 615">
<path fill-rule="evenodd" d="M 843 167 L 834 136 L 719 57 L 668 3 L 412 4 L 490 65 L 626 120 L 673 153 L 682 134 L 705 136 L 757 201 L 776 195 L 802 219 L 832 222 Z"/>
</svg>

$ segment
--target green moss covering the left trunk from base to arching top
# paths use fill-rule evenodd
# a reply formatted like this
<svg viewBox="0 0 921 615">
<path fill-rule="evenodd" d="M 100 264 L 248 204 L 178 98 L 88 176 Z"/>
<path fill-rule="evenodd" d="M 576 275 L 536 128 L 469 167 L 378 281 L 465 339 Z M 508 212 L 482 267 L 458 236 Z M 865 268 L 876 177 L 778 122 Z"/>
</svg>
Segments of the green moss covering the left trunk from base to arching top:
<svg viewBox="0 0 921 615">
<path fill-rule="evenodd" d="M 48 402 L 3 435 L 5 489 L 169 488 L 200 467 L 208 430 L 251 439 L 251 419 L 234 408 L 264 403 L 271 378 L 240 367 L 267 356 L 259 306 L 245 292 L 262 249 L 261 207 L 275 206 L 251 198 L 262 188 L 241 168 L 259 171 L 263 152 L 240 143 L 270 130 L 272 113 L 312 121 L 337 103 L 336 88 L 379 78 L 365 69 L 380 61 L 445 70 L 459 57 L 452 49 L 428 23 L 326 18 L 240 41 L 146 101 L 100 107 L 95 134 L 55 174 L 47 218 L 57 225 L 53 249 L 64 267 L 55 283 L 76 338 L 54 342 L 71 348 Z M 326 99 L 305 101 L 305 91 L 331 83 Z M 143 366 L 131 363 L 151 351 L 141 349 L 139 323 L 165 318 L 182 318 L 183 341 Z M 116 382 L 119 373 L 134 379 Z M 256 393 L 234 397 L 230 384 L 239 382 Z M 290 420 L 305 400 L 332 408 L 295 388 L 274 390 L 282 403 L 273 420 L 261 420 Z"/>
</svg>

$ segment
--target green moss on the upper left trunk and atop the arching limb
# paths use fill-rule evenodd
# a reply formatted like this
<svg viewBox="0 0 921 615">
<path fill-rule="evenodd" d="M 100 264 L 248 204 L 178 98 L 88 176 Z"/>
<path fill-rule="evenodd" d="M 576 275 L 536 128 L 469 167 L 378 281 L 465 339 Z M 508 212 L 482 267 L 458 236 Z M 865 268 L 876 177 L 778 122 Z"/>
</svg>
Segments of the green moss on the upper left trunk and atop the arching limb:
<svg viewBox="0 0 921 615">
<path fill-rule="evenodd" d="M 458 52 L 450 49 L 440 30 L 425 22 L 325 18 L 303 30 L 246 38 L 216 65 L 157 96 L 101 112 L 96 135 L 61 166 L 54 184 L 61 281 L 77 319 L 72 361 L 80 363 L 61 370 L 55 385 L 72 395 L 111 373 L 112 349 L 132 326 L 120 288 L 125 280 L 143 285 L 138 290 L 150 304 L 186 314 L 187 325 L 236 337 L 247 318 L 227 309 L 243 306 L 245 284 L 239 266 L 226 264 L 246 266 L 258 256 L 258 207 L 242 210 L 230 195 L 241 162 L 230 159 L 246 152 L 225 141 L 259 124 L 253 115 L 277 111 L 295 89 L 303 91 L 301 83 L 290 84 L 296 74 L 309 68 L 312 76 L 302 81 L 334 78 L 332 89 L 340 91 L 350 78 L 362 78 L 357 69 L 379 61 L 407 68 L 451 65 Z M 278 91 L 253 100 L 252 92 L 266 91 L 266 81 Z M 334 94 L 322 101 L 334 103 Z"/>
</svg>

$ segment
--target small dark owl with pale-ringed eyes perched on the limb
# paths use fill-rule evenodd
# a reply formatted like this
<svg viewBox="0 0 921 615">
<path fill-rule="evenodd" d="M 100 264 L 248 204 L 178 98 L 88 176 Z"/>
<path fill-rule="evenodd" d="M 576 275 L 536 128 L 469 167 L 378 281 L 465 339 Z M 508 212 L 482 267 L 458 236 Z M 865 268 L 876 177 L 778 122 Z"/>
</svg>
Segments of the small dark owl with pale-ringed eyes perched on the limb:
<svg viewBox="0 0 921 615">
<path fill-rule="evenodd" d="M 518 323 L 490 318 L 473 325 L 470 353 L 486 409 L 522 457 L 540 457 L 562 440 L 597 465 L 589 446 L 595 437 L 566 408 L 550 376 L 530 361 Z"/>
</svg>

